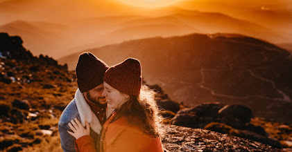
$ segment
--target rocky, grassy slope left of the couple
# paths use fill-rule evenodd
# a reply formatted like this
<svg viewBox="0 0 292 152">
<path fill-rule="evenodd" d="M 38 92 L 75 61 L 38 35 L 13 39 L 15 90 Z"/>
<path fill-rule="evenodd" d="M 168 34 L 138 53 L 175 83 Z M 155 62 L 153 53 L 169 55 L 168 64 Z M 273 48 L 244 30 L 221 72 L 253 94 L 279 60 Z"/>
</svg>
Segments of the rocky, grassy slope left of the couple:
<svg viewBox="0 0 292 152">
<path fill-rule="evenodd" d="M 60 151 L 58 120 L 76 91 L 76 76 L 51 57 L 33 56 L 22 43 L 0 33 L 0 151 L 50 141 L 55 143 L 47 149 Z"/>
</svg>

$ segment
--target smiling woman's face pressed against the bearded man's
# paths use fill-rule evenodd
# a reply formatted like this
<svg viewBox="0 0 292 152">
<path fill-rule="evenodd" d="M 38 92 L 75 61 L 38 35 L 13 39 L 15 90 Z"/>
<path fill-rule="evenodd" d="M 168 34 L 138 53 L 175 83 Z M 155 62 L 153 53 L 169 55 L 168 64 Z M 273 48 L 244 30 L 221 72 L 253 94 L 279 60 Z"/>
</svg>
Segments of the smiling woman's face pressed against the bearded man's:
<svg viewBox="0 0 292 152">
<path fill-rule="evenodd" d="M 108 102 L 109 108 L 118 109 L 125 102 L 128 102 L 129 95 L 121 93 L 106 82 L 103 82 L 104 90 L 103 96 Z"/>
</svg>

